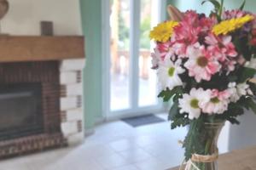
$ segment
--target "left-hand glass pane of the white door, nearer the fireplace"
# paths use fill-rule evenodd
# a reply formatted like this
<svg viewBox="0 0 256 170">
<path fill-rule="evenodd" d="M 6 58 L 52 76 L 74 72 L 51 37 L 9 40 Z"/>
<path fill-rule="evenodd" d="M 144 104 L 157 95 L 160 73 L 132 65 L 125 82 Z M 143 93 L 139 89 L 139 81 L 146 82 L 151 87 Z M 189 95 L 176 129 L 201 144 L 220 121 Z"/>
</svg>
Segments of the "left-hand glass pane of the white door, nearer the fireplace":
<svg viewBox="0 0 256 170">
<path fill-rule="evenodd" d="M 111 111 L 130 107 L 130 0 L 111 0 Z"/>
</svg>

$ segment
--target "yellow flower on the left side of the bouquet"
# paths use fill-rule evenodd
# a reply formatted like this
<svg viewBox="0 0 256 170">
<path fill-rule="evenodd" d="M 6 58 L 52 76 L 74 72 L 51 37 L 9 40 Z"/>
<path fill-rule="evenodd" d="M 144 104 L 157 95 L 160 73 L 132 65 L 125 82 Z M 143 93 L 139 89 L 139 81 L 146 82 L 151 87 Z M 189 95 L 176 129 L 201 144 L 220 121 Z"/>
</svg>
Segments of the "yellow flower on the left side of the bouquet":
<svg viewBox="0 0 256 170">
<path fill-rule="evenodd" d="M 167 42 L 172 37 L 173 28 L 178 25 L 176 21 L 166 21 L 155 26 L 153 31 L 150 31 L 150 39 L 157 42 Z"/>
</svg>

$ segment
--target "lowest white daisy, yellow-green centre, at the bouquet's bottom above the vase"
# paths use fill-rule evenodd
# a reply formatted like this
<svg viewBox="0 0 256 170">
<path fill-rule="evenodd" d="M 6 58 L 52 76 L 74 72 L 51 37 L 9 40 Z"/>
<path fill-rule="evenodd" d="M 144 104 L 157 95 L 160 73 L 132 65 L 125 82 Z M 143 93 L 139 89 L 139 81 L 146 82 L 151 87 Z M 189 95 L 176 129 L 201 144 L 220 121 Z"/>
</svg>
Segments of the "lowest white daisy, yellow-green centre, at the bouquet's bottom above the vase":
<svg viewBox="0 0 256 170">
<path fill-rule="evenodd" d="M 201 106 L 211 99 L 211 90 L 202 88 L 192 88 L 190 94 L 183 94 L 183 99 L 179 99 L 180 113 L 189 113 L 189 119 L 197 119 L 201 116 Z"/>
</svg>

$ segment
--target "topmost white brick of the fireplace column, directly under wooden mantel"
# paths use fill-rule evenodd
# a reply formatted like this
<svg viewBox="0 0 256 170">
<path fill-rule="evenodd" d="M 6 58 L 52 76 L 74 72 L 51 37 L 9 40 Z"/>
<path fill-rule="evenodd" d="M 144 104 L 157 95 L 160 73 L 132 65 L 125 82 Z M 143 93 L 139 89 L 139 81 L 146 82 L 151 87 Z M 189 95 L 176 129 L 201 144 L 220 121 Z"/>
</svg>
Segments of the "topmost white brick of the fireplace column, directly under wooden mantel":
<svg viewBox="0 0 256 170">
<path fill-rule="evenodd" d="M 64 59 L 61 61 L 61 71 L 81 71 L 84 69 L 85 59 Z"/>
</svg>

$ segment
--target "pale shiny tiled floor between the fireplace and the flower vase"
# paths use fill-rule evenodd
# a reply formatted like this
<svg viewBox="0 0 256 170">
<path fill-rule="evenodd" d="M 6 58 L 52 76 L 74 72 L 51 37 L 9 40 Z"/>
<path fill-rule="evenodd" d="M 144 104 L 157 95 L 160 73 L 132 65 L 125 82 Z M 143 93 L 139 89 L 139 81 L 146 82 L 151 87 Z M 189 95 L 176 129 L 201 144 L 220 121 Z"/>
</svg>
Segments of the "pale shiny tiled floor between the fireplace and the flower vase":
<svg viewBox="0 0 256 170">
<path fill-rule="evenodd" d="M 177 141 L 186 131 L 171 131 L 169 122 L 137 128 L 108 122 L 84 144 L 0 161 L 0 170 L 164 170 L 183 161 Z"/>
</svg>

